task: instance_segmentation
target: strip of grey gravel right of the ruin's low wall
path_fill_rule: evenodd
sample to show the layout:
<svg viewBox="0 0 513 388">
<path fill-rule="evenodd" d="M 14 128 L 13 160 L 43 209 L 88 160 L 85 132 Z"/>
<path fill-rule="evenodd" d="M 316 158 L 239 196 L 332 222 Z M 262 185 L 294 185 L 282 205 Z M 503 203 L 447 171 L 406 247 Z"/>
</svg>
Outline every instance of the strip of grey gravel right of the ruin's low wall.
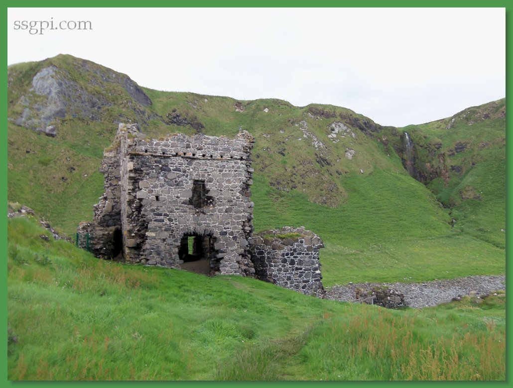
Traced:
<svg viewBox="0 0 513 388">
<path fill-rule="evenodd" d="M 368 290 L 376 285 L 386 285 L 404 294 L 409 307 L 422 308 L 449 302 L 458 295 L 465 296 L 475 292 L 478 296 L 506 289 L 506 276 L 468 276 L 458 279 L 433 280 L 424 283 L 358 283 L 334 285 L 326 289 L 327 299 L 352 301 L 354 290 Z"/>
</svg>

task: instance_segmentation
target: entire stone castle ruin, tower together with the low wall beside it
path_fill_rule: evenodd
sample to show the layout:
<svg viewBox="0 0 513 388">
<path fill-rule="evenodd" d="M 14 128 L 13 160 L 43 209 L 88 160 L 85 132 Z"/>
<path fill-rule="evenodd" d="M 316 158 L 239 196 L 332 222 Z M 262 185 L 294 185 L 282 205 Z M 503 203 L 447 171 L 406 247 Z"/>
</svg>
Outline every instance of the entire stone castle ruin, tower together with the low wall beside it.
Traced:
<svg viewBox="0 0 513 388">
<path fill-rule="evenodd" d="M 253 142 L 246 131 L 233 139 L 148 140 L 136 124 L 120 124 L 104 152 L 105 193 L 78 235 L 87 234 L 89 250 L 100 258 L 255 276 L 323 296 L 318 236 L 288 228 L 293 239 L 281 241 L 283 231 L 253 238 Z"/>
</svg>

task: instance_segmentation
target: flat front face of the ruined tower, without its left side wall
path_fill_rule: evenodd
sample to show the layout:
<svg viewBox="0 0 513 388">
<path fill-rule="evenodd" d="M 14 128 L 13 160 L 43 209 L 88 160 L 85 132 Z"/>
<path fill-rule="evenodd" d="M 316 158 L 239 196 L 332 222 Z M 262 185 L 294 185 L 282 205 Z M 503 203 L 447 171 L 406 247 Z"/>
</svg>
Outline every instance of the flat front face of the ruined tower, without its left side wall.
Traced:
<svg viewBox="0 0 513 388">
<path fill-rule="evenodd" d="M 126 257 L 132 262 L 179 268 L 185 235 L 210 236 L 215 273 L 252 272 L 247 254 L 253 231 L 249 152 L 252 138 L 176 135 L 165 141 L 127 139 Z M 191 204 L 194 182 L 204 185 L 208 203 Z M 140 215 L 134 206 L 141 204 Z M 134 215 L 136 217 L 134 217 Z M 145 236 L 132 233 L 147 221 Z M 136 249 L 140 248 L 139 255 Z"/>
</svg>

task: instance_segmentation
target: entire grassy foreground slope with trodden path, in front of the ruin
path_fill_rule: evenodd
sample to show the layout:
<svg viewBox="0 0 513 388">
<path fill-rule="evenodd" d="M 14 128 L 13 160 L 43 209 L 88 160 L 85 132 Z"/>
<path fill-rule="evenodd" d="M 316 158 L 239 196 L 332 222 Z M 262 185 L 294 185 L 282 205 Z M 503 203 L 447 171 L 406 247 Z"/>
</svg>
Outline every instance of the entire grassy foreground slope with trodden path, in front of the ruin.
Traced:
<svg viewBox="0 0 513 388">
<path fill-rule="evenodd" d="M 9 380 L 505 379 L 504 293 L 391 311 L 8 233 Z"/>
</svg>

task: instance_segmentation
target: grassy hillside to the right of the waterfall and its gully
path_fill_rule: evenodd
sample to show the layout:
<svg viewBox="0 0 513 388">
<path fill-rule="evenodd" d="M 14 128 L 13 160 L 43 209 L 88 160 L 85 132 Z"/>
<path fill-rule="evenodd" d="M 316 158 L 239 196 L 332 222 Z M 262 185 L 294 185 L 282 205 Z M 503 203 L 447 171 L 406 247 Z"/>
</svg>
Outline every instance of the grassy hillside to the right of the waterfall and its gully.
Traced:
<svg viewBox="0 0 513 388">
<path fill-rule="evenodd" d="M 500 248 L 506 242 L 505 112 L 503 98 L 402 129 L 416 145 L 416 167 L 433 175 L 427 187 L 450 209 L 455 228 Z"/>
</svg>

